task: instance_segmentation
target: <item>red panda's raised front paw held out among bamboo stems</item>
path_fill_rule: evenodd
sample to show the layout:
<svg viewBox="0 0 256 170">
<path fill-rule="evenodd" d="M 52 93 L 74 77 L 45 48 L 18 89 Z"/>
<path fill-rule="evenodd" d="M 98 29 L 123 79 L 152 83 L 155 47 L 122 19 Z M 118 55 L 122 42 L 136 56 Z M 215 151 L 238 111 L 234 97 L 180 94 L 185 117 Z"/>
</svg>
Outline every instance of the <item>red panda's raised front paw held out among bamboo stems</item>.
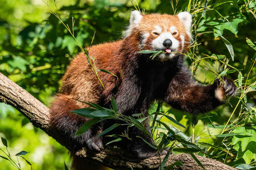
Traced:
<svg viewBox="0 0 256 170">
<path fill-rule="evenodd" d="M 215 86 L 215 98 L 221 102 L 227 102 L 230 96 L 236 95 L 237 87 L 231 79 L 227 77 L 222 77 L 224 83 L 221 82 L 219 79 L 216 79 L 214 84 Z"/>
</svg>

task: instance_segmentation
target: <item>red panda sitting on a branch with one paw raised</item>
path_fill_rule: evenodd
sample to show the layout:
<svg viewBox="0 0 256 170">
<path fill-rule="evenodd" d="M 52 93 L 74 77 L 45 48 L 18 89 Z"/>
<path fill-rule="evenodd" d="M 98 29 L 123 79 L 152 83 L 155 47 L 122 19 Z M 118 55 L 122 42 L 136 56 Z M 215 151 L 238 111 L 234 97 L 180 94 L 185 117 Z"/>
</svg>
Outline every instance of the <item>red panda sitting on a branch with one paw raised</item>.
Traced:
<svg viewBox="0 0 256 170">
<path fill-rule="evenodd" d="M 74 150 L 81 146 L 101 150 L 106 139 L 102 136 L 97 139 L 94 137 L 113 122 L 106 120 L 98 123 L 84 134 L 74 137 L 79 127 L 89 120 L 70 113 L 72 110 L 88 107 L 77 100 L 110 107 L 110 98 L 113 96 L 120 113 L 131 115 L 142 112 L 145 116 L 155 100 L 192 114 L 205 113 L 224 104 L 229 96 L 236 94 L 233 81 L 224 77 L 225 84 L 218 80 L 207 86 L 197 84 L 188 66 L 184 64 L 183 53 L 191 39 L 191 23 L 192 16 L 188 12 L 169 15 L 132 11 L 130 24 L 122 40 L 94 45 L 89 51 L 90 56 L 95 59 L 97 69 L 108 70 L 119 78 L 99 72 L 99 78 L 105 86 L 103 88 L 93 74 L 87 57 L 82 53 L 78 54 L 62 78 L 60 94 L 52 102 L 52 127 L 73 142 Z M 151 59 L 151 54 L 138 53 L 142 50 L 165 53 Z M 147 123 L 145 127 L 151 133 Z M 156 156 L 156 150 L 142 139 L 136 138 L 143 136 L 143 133 L 136 127 L 129 128 L 132 129 L 129 130 L 132 141 L 122 142 L 122 147 L 135 153 L 140 159 Z M 152 142 L 145 136 L 143 138 Z M 162 154 L 165 153 L 163 151 Z M 82 163 L 73 162 L 73 168 L 83 170 L 85 167 Z"/>
</svg>

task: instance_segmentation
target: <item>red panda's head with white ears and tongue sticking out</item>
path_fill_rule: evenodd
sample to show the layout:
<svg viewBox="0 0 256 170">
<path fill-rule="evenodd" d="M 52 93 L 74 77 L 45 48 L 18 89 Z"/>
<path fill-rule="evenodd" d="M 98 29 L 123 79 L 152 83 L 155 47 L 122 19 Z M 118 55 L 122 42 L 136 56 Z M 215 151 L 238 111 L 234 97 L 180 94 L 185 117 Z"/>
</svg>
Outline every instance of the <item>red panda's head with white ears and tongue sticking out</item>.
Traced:
<svg viewBox="0 0 256 170">
<path fill-rule="evenodd" d="M 138 35 L 140 50 L 165 51 L 158 55 L 164 61 L 188 48 L 191 23 L 189 12 L 143 15 L 139 11 L 132 11 L 125 37 Z"/>
</svg>

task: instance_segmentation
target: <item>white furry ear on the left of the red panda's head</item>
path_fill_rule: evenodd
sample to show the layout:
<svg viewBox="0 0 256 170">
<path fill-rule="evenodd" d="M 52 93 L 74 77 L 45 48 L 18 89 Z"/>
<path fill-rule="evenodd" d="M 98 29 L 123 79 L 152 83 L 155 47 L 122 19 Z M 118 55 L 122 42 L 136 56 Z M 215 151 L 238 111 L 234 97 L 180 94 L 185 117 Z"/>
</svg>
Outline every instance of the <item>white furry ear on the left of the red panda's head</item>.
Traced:
<svg viewBox="0 0 256 170">
<path fill-rule="evenodd" d="M 141 19 L 142 19 L 142 14 L 140 14 L 139 11 L 134 10 L 131 12 L 130 20 L 129 20 L 130 24 L 125 31 L 125 37 L 128 37 L 131 34 L 132 29 L 140 23 Z"/>
</svg>

